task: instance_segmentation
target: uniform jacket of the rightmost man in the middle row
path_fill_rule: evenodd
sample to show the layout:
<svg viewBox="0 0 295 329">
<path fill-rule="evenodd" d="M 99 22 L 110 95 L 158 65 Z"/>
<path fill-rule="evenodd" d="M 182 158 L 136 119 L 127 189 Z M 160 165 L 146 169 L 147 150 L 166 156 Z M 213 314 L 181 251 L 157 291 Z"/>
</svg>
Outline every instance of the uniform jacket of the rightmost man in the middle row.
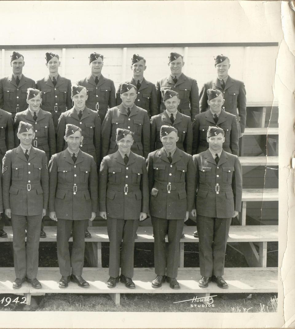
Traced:
<svg viewBox="0 0 295 329">
<path fill-rule="evenodd" d="M 221 110 L 218 121 L 215 123 L 210 110 L 197 114 L 193 122 L 193 154 L 208 149 L 207 131 L 209 126 L 218 126 L 224 130 L 225 141 L 222 145 L 224 151 L 238 155 L 239 132 L 236 116 Z"/>
</svg>

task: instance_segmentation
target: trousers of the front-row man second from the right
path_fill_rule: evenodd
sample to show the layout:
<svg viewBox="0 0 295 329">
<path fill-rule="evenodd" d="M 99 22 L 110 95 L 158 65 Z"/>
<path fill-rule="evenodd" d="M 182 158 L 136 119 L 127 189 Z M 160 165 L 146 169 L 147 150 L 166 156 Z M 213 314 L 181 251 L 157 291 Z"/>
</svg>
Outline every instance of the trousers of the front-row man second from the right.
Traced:
<svg viewBox="0 0 295 329">
<path fill-rule="evenodd" d="M 184 218 L 166 219 L 152 216 L 151 222 L 155 241 L 155 273 L 176 278 L 180 257 L 179 243 L 184 226 Z M 166 234 L 168 234 L 167 247 L 165 242 Z"/>
</svg>

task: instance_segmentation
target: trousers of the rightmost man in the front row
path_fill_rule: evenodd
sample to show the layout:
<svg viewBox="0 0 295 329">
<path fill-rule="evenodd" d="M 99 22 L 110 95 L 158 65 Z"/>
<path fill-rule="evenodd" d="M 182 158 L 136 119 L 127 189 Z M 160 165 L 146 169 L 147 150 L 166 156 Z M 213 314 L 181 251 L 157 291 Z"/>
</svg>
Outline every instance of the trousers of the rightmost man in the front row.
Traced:
<svg viewBox="0 0 295 329">
<path fill-rule="evenodd" d="M 232 218 L 197 215 L 201 276 L 223 275 L 225 249 Z"/>
</svg>

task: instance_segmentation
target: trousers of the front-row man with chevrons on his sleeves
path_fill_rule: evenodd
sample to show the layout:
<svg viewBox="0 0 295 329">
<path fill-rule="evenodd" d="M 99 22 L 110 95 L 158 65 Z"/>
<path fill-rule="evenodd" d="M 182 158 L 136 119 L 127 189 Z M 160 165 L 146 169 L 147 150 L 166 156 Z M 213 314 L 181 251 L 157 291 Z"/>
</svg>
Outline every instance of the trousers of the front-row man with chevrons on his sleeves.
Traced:
<svg viewBox="0 0 295 329">
<path fill-rule="evenodd" d="M 35 216 L 11 214 L 14 271 L 19 279 L 37 277 L 41 220 L 42 214 Z M 26 228 L 27 247 L 25 246 Z"/>
</svg>

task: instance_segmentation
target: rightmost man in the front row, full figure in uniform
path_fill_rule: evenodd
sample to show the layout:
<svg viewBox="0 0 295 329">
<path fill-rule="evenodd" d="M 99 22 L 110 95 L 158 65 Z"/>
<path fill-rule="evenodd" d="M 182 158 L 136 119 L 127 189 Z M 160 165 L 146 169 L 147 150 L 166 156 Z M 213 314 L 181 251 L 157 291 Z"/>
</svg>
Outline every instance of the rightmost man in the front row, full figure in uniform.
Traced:
<svg viewBox="0 0 295 329">
<path fill-rule="evenodd" d="M 200 287 L 210 281 L 227 288 L 223 279 L 226 242 L 232 217 L 242 200 L 242 168 L 238 156 L 225 152 L 224 131 L 209 127 L 209 149 L 193 156 L 196 165 L 196 209 L 199 234 Z"/>
</svg>

